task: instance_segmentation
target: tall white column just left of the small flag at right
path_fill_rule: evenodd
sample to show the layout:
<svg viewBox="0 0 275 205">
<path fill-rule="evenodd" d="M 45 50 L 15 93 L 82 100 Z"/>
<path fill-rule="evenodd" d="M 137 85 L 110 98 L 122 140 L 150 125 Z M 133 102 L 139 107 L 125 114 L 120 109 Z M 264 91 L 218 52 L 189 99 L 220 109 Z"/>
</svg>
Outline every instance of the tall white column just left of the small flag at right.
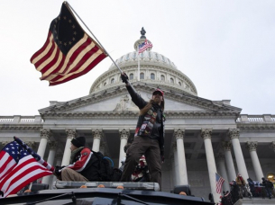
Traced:
<svg viewBox="0 0 275 205">
<path fill-rule="evenodd" d="M 220 195 L 215 191 L 216 166 L 215 166 L 215 156 L 214 156 L 213 147 L 211 143 L 211 134 L 212 134 L 212 129 L 201 129 L 201 137 L 204 138 L 204 143 L 206 148 L 206 161 L 207 161 L 207 167 L 208 167 L 211 192 L 213 194 L 214 201 L 218 202 Z"/>
</svg>

